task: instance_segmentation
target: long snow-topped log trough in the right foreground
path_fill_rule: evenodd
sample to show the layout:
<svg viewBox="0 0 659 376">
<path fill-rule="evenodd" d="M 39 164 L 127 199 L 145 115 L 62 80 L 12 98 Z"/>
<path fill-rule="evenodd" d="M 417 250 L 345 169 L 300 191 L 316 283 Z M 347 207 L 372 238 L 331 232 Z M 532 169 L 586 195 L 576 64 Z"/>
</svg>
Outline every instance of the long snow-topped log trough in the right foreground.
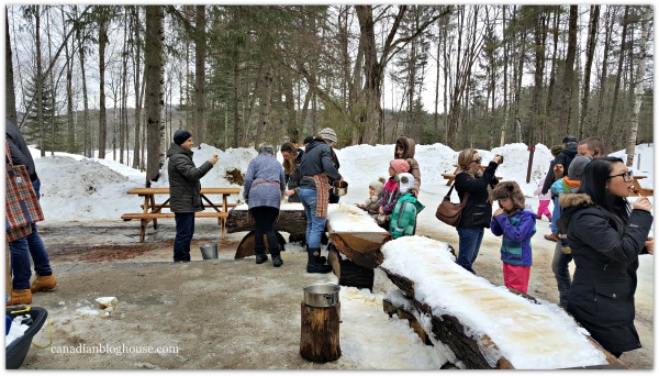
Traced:
<svg viewBox="0 0 659 376">
<path fill-rule="evenodd" d="M 403 236 L 382 254 L 380 268 L 402 291 L 387 295 L 386 311 L 414 316 L 417 329 L 448 345 L 460 367 L 625 368 L 561 308 L 465 270 L 444 242 Z"/>
</svg>

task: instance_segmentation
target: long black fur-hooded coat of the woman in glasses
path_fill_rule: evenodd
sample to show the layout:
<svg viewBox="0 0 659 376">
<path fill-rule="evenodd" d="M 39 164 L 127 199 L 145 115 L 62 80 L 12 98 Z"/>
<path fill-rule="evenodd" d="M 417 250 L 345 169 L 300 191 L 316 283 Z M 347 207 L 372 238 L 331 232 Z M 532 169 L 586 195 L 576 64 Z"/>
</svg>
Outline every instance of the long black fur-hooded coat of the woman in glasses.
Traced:
<svg viewBox="0 0 659 376">
<path fill-rule="evenodd" d="M 559 198 L 559 226 L 572 248 L 574 277 L 568 312 L 612 353 L 640 347 L 634 328 L 634 294 L 638 255 L 644 250 L 652 214 L 632 210 L 624 229 L 584 193 Z"/>
</svg>

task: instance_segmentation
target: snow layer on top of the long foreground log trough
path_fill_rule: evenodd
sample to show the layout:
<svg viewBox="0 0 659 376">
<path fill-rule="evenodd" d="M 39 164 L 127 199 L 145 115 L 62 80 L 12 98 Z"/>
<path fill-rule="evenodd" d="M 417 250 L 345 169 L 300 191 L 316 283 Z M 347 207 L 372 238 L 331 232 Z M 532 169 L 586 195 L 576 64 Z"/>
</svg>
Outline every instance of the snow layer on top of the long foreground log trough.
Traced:
<svg viewBox="0 0 659 376">
<path fill-rule="evenodd" d="M 415 299 L 434 316 L 450 314 L 466 334 L 489 335 L 516 369 L 556 369 L 606 364 L 588 332 L 552 303 L 534 305 L 456 264 L 447 244 L 403 236 L 382 246 L 382 267 L 414 283 Z M 484 354 L 491 366 L 499 354 Z M 489 355 L 489 356 L 488 356 Z"/>
</svg>

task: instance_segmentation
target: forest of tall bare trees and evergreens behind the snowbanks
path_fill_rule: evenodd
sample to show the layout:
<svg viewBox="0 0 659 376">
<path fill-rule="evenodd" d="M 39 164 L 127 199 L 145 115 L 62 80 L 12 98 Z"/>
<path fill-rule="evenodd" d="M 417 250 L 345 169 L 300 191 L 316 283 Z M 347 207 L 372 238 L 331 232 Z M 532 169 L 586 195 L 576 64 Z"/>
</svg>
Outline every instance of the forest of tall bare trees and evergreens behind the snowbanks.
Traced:
<svg viewBox="0 0 659 376">
<path fill-rule="evenodd" d="M 652 142 L 652 5 L 4 10 L 7 119 L 42 156 L 112 151 L 147 186 L 177 129 L 222 150 L 325 126 L 339 147 Z"/>
</svg>

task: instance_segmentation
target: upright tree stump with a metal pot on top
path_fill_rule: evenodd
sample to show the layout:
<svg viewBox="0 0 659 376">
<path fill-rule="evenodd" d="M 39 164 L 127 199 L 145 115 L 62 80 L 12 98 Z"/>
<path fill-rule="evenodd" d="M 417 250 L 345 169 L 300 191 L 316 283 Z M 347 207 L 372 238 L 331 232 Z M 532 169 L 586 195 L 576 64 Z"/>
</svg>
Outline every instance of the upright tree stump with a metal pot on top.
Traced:
<svg viewBox="0 0 659 376">
<path fill-rule="evenodd" d="M 332 307 L 311 307 L 302 301 L 301 311 L 300 355 L 308 361 L 317 363 L 339 358 L 340 302 Z"/>
</svg>

